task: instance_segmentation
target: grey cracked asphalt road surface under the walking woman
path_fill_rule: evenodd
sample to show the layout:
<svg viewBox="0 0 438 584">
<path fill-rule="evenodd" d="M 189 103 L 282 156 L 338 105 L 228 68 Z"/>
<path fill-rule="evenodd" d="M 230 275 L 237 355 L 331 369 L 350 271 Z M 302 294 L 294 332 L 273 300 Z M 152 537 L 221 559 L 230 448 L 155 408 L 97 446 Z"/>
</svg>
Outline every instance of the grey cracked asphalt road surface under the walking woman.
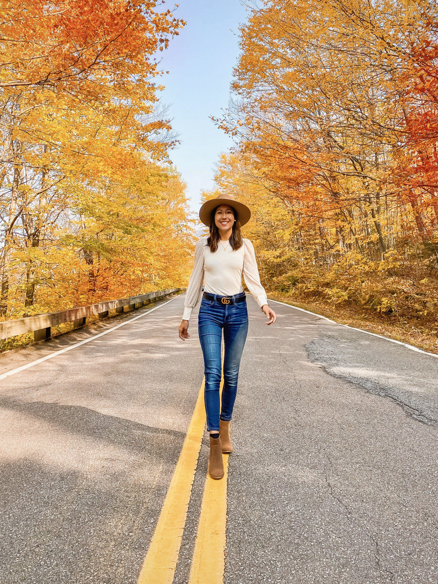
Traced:
<svg viewBox="0 0 438 584">
<path fill-rule="evenodd" d="M 137 582 L 202 381 L 182 305 L 0 380 L 1 584 Z M 267 327 L 248 298 L 225 584 L 438 583 L 438 358 L 273 306 Z M 0 373 L 131 316 L 8 354 Z M 206 459 L 204 440 L 175 584 Z"/>
</svg>

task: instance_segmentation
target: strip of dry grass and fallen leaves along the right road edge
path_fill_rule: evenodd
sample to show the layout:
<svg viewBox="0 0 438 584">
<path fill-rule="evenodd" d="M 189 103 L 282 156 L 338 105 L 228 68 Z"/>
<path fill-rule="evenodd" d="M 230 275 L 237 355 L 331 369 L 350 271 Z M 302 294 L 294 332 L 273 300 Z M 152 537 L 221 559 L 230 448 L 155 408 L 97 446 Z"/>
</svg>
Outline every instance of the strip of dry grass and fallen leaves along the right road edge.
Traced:
<svg viewBox="0 0 438 584">
<path fill-rule="evenodd" d="M 280 294 L 271 292 L 269 296 L 274 300 L 291 304 L 298 308 L 304 308 L 310 312 L 316 312 L 323 317 L 332 319 L 343 325 L 354 326 L 354 328 L 363 331 L 373 332 L 377 335 L 387 336 L 390 339 L 399 340 L 408 345 L 413 345 L 419 349 L 426 350 L 429 353 L 438 354 L 438 334 L 436 331 L 429 329 L 417 328 L 417 321 L 401 322 L 396 317 L 385 317 L 378 312 L 360 312 L 353 306 L 329 305 L 324 301 L 306 299 L 301 303 L 301 299 L 292 297 L 290 294 Z M 417 326 L 415 326 L 417 325 Z"/>
</svg>

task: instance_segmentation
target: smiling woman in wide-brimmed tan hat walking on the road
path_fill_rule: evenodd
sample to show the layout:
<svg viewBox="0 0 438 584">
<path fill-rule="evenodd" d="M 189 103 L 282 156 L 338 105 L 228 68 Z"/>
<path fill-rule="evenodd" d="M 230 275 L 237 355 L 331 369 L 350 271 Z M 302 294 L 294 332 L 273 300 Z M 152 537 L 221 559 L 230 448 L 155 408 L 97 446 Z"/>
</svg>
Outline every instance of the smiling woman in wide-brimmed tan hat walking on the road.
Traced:
<svg viewBox="0 0 438 584">
<path fill-rule="evenodd" d="M 246 205 L 224 194 L 203 204 L 200 220 L 210 228 L 210 235 L 196 243 L 194 267 L 187 288 L 179 336 L 189 338 L 187 329 L 193 308 L 204 295 L 198 316 L 199 339 L 204 356 L 207 430 L 210 432 L 208 473 L 211 478 L 224 476 L 222 453 L 231 453 L 230 420 L 236 399 L 239 364 L 248 332 L 245 284 L 269 321 L 276 314 L 267 304 L 265 288 L 260 284 L 254 248 L 243 239 L 241 225 L 248 223 L 251 211 Z M 219 386 L 222 359 L 221 342 L 224 333 L 224 385 L 222 404 Z"/>
</svg>

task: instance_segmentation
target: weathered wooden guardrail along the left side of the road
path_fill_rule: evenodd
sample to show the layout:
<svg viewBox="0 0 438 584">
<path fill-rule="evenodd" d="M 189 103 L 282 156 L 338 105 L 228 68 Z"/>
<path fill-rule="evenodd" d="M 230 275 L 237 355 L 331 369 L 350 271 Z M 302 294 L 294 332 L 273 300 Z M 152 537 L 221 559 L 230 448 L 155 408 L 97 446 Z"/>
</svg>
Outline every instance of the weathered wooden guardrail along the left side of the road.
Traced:
<svg viewBox="0 0 438 584">
<path fill-rule="evenodd" d="M 69 308 L 61 312 L 48 312 L 47 314 L 38 314 L 33 317 L 17 318 L 13 321 L 0 322 L 0 340 L 9 339 L 11 336 L 24 335 L 33 332 L 34 342 L 51 338 L 51 327 L 73 322 L 73 328 L 81 328 L 85 325 L 86 317 L 98 315 L 99 318 L 108 316 L 110 310 L 117 313 L 124 312 L 124 307 L 128 310 L 140 308 L 143 304 L 150 303 L 151 300 L 164 298 L 169 294 L 180 292 L 185 288 L 170 288 L 169 290 L 160 290 L 158 292 L 149 292 L 140 294 L 140 296 L 131 296 L 130 298 L 118 298 L 117 300 L 107 300 L 98 304 L 89 306 L 80 306 L 78 308 Z"/>
</svg>

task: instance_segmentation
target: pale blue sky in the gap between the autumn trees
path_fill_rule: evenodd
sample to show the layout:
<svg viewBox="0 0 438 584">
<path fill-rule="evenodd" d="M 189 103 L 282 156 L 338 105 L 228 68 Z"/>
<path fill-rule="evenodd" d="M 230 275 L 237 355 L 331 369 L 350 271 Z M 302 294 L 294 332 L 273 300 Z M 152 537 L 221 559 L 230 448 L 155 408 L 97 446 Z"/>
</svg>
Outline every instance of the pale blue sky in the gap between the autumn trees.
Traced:
<svg viewBox="0 0 438 584">
<path fill-rule="evenodd" d="M 161 101 L 181 144 L 171 152 L 173 164 L 187 183 L 191 206 L 197 211 L 200 190 L 213 186 L 220 152 L 233 144 L 209 116 L 220 116 L 230 98 L 232 68 L 239 54 L 238 27 L 246 19 L 240 0 L 180 0 L 175 16 L 187 25 L 161 53 L 160 78 L 166 86 Z M 165 7 L 173 4 L 166 2 Z"/>
</svg>

